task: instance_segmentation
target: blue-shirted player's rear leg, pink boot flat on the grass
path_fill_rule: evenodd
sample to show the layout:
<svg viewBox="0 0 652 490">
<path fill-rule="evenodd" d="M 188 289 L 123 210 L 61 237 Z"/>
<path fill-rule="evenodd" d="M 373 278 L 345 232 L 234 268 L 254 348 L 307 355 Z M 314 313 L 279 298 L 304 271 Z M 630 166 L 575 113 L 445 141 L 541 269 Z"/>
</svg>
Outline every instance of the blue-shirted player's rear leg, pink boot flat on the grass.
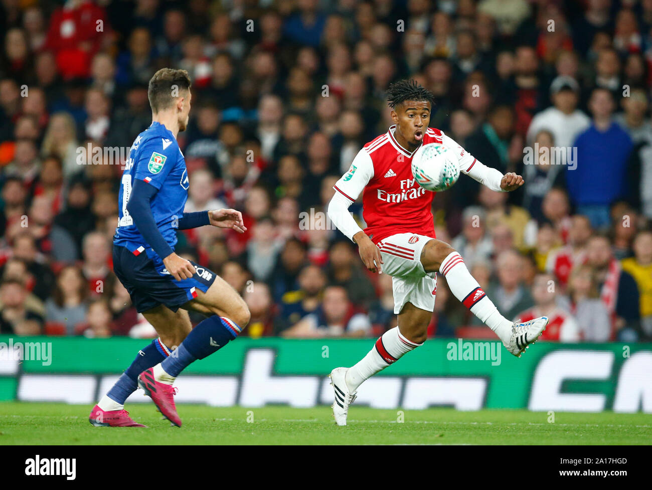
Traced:
<svg viewBox="0 0 652 490">
<path fill-rule="evenodd" d="M 192 330 L 185 310 L 175 312 L 161 304 L 143 315 L 159 337 L 138 351 L 131 365 L 93 407 L 89 422 L 97 427 L 145 427 L 132 420 L 125 410 L 125 401 L 138 388 L 138 375 L 168 357 Z"/>
</svg>

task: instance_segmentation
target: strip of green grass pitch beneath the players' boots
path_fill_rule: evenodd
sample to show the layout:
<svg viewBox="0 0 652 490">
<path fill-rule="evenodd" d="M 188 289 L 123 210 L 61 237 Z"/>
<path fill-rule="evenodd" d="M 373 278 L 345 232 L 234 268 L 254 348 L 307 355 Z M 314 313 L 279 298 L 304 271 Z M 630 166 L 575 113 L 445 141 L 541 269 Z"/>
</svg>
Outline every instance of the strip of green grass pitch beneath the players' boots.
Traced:
<svg viewBox="0 0 652 490">
<path fill-rule="evenodd" d="M 170 427 L 153 405 L 131 405 L 147 429 L 93 427 L 91 407 L 0 402 L 0 444 L 649 444 L 649 414 L 555 414 L 453 409 L 405 411 L 351 407 L 336 427 L 329 407 L 217 408 L 179 405 L 183 427 Z M 253 416 L 253 422 L 247 418 Z"/>
</svg>

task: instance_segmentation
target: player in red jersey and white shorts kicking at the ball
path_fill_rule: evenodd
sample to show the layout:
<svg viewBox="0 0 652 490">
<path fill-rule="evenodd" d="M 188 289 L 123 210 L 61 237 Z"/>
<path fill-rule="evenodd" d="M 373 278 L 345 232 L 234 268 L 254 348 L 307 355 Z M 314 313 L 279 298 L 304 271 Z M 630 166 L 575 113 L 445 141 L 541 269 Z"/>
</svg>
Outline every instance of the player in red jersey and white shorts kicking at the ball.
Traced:
<svg viewBox="0 0 652 490">
<path fill-rule="evenodd" d="M 331 371 L 333 415 L 346 425 L 349 405 L 366 379 L 396 362 L 426 340 L 435 305 L 436 274 L 443 274 L 451 292 L 496 332 L 503 345 L 520 357 L 539 338 L 547 317 L 512 323 L 485 295 L 458 252 L 435 238 L 432 216 L 434 193 L 421 188 L 411 172 L 420 145 L 437 143 L 455 149 L 460 171 L 494 191 L 509 192 L 523 185 L 515 173 L 503 175 L 478 162 L 450 137 L 429 128 L 434 95 L 414 80 L 394 83 L 387 91 L 394 125 L 366 145 L 349 171 L 334 185 L 328 215 L 344 235 L 357 244 L 364 266 L 393 277 L 394 313 L 398 326 L 383 334 L 353 367 Z M 363 192 L 361 229 L 348 211 Z"/>
</svg>

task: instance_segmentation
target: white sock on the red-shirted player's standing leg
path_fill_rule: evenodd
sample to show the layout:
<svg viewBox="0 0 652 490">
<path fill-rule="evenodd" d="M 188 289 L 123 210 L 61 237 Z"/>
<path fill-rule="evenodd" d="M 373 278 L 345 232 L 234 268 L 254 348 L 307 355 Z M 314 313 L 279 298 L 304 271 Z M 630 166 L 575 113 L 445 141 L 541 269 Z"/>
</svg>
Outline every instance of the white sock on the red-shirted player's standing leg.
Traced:
<svg viewBox="0 0 652 490">
<path fill-rule="evenodd" d="M 394 364 L 403 354 L 409 353 L 422 345 L 406 339 L 395 326 L 387 330 L 376 341 L 374 348 L 369 351 L 355 366 L 346 371 L 346 386 L 350 392 L 355 392 L 364 380 Z"/>
</svg>

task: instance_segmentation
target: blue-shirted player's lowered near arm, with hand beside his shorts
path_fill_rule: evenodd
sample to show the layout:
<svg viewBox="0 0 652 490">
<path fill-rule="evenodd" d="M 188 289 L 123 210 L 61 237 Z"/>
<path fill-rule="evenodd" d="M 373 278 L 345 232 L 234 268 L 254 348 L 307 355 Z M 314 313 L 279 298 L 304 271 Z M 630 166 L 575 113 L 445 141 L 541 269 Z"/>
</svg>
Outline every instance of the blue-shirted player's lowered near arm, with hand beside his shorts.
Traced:
<svg viewBox="0 0 652 490">
<path fill-rule="evenodd" d="M 154 252 L 161 257 L 166 269 L 177 281 L 191 278 L 195 273 L 192 264 L 179 257 L 166 242 L 163 235 L 158 231 L 154 215 L 152 214 L 151 199 L 158 192 L 158 189 L 144 180 L 134 180 L 134 188 L 129 197 L 126 209 L 134 220 L 134 225 L 147 243 L 154 249 Z"/>
</svg>

